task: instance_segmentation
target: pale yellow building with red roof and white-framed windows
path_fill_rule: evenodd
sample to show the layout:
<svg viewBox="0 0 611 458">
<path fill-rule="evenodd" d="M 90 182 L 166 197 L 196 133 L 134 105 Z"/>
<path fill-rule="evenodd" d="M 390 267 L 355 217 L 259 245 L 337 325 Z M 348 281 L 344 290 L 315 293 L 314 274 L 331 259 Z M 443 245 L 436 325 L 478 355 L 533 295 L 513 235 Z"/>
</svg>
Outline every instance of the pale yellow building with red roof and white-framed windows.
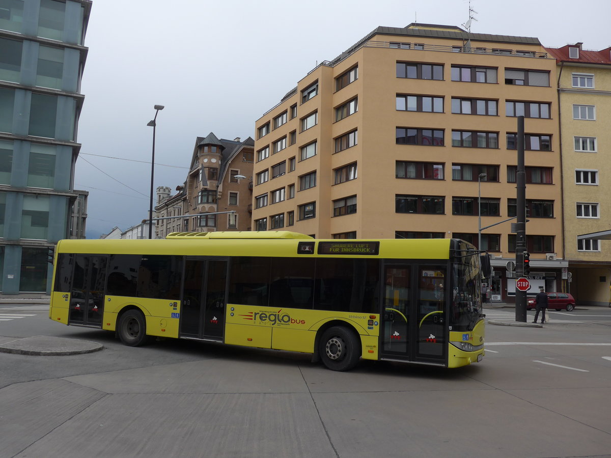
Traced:
<svg viewBox="0 0 611 458">
<path fill-rule="evenodd" d="M 564 248 L 577 304 L 611 304 L 611 48 L 547 48 L 558 64 Z M 592 238 L 579 238 L 593 234 Z"/>
</svg>

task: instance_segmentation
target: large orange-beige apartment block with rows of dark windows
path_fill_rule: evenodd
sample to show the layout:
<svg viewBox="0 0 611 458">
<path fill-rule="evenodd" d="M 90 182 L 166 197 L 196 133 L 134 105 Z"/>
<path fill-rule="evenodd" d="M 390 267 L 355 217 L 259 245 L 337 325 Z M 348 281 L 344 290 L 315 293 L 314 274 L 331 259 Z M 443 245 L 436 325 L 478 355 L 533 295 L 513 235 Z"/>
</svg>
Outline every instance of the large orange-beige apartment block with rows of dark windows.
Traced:
<svg viewBox="0 0 611 458">
<path fill-rule="evenodd" d="M 462 238 L 513 297 L 517 116 L 525 115 L 532 291 L 563 290 L 557 65 L 537 38 L 378 27 L 257 120 L 255 230 Z M 478 225 L 478 202 L 481 209 Z"/>
</svg>

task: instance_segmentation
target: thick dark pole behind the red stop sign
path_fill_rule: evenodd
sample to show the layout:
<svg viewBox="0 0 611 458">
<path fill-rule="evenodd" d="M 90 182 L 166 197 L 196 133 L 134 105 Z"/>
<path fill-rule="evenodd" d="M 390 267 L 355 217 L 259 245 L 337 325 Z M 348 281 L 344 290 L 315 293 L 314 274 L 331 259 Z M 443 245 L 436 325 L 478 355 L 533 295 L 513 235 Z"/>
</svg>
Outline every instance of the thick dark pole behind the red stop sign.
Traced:
<svg viewBox="0 0 611 458">
<path fill-rule="evenodd" d="M 526 251 L 526 172 L 524 169 L 524 116 L 518 116 L 518 170 L 516 171 L 516 277 L 524 275 Z M 516 288 L 516 321 L 526 322 L 526 292 Z"/>
</svg>

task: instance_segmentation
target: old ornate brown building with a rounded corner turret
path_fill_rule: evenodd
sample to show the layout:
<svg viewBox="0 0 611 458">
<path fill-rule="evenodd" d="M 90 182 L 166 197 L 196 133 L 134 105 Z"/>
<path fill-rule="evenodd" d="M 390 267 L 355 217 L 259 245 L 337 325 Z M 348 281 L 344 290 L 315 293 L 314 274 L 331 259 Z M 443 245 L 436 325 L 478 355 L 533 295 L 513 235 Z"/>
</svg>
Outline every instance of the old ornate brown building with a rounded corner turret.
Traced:
<svg viewBox="0 0 611 458">
<path fill-rule="evenodd" d="M 251 230 L 254 140 L 197 137 L 183 186 L 158 187 L 155 234 Z M 229 213 L 233 212 L 233 213 Z"/>
</svg>

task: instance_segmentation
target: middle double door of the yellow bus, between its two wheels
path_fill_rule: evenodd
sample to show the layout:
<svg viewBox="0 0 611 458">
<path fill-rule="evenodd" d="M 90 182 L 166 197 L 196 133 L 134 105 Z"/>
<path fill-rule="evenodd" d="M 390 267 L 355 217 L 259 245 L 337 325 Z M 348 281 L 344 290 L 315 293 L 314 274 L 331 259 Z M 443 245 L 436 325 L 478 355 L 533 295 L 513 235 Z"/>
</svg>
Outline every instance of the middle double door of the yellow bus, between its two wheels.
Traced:
<svg viewBox="0 0 611 458">
<path fill-rule="evenodd" d="M 227 260 L 187 259 L 184 277 L 180 335 L 222 341 Z"/>
</svg>

